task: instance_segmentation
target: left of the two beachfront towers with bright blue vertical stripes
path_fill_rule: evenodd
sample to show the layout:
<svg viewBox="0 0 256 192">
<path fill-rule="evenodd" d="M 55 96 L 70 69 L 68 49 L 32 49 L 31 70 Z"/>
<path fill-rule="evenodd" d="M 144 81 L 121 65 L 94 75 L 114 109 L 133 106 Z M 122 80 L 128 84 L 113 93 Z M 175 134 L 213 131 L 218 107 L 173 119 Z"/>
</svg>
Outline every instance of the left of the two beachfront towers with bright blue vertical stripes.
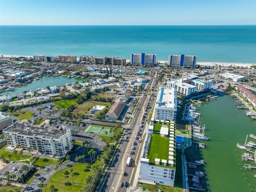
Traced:
<svg viewBox="0 0 256 192">
<path fill-rule="evenodd" d="M 131 65 L 132 66 L 156 66 L 156 55 L 155 54 L 131 54 Z"/>
</svg>

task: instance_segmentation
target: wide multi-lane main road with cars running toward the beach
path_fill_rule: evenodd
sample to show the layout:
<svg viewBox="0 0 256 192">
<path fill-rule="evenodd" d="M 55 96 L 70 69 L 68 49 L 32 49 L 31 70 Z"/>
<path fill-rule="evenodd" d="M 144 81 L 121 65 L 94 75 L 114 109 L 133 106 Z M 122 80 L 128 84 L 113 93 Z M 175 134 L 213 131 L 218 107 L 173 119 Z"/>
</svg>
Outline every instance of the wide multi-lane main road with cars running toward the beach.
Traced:
<svg viewBox="0 0 256 192">
<path fill-rule="evenodd" d="M 107 180 L 103 184 L 101 192 L 126 192 L 129 188 L 129 185 L 128 187 L 125 187 L 124 184 L 125 182 L 128 182 L 130 184 L 134 168 L 132 166 L 126 166 L 126 161 L 130 156 L 131 164 L 134 164 L 137 157 L 140 155 L 138 154 L 138 151 L 142 143 L 138 142 L 138 138 L 142 139 L 143 133 L 146 131 L 146 121 L 143 121 L 144 113 L 147 113 L 145 116 L 146 118 L 148 118 L 148 114 L 152 109 L 149 107 L 154 105 L 154 96 L 148 95 L 148 92 L 150 89 L 152 89 L 152 86 L 154 86 L 156 77 L 157 72 L 154 72 L 146 88 L 146 94 L 142 96 L 138 108 L 134 114 L 134 117 L 132 118 L 132 122 L 130 123 L 130 125 L 128 125 L 128 128 L 126 128 L 125 134 L 127 134 L 128 138 L 122 139 L 119 151 L 117 152 L 116 156 L 114 156 L 114 162 L 112 166 L 110 166 Z M 149 108 L 148 111 L 146 111 L 147 107 Z M 143 127 L 140 127 L 140 124 L 142 124 Z M 142 130 L 140 132 L 140 136 L 137 135 L 139 129 Z M 135 149 L 133 150 L 133 154 L 130 154 L 132 146 L 134 146 Z M 126 176 L 124 176 L 124 173 L 126 173 Z M 120 182 L 123 183 L 122 187 L 119 186 Z"/>
</svg>

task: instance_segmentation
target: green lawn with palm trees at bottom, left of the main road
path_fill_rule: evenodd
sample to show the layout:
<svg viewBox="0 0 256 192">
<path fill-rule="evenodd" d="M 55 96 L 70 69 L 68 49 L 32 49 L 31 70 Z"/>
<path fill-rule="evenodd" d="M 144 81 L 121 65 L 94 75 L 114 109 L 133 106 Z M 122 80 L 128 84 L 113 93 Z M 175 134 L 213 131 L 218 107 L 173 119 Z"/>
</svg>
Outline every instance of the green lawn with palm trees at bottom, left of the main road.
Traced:
<svg viewBox="0 0 256 192">
<path fill-rule="evenodd" d="M 65 183 L 66 182 L 70 182 L 72 183 L 72 176 L 70 176 L 70 174 L 68 174 L 68 178 L 65 178 L 64 172 L 65 170 L 67 170 L 70 173 L 70 168 L 65 168 L 61 171 L 58 171 L 54 174 L 54 176 L 52 176 L 52 181 L 49 181 L 47 183 L 47 187 L 46 187 L 46 192 L 50 192 L 49 190 L 49 186 L 50 185 L 54 185 L 54 187 L 56 189 L 58 189 L 58 191 L 60 192 L 78 192 L 80 190 L 80 188 L 82 188 L 82 186 L 84 186 L 85 181 L 84 178 L 86 178 L 87 175 L 92 174 L 92 170 L 91 170 L 91 165 L 87 164 L 87 163 L 82 163 L 82 164 L 75 164 L 72 166 L 72 169 L 74 170 L 73 173 L 75 174 L 74 176 L 74 185 L 70 185 L 70 186 L 66 186 Z"/>
</svg>

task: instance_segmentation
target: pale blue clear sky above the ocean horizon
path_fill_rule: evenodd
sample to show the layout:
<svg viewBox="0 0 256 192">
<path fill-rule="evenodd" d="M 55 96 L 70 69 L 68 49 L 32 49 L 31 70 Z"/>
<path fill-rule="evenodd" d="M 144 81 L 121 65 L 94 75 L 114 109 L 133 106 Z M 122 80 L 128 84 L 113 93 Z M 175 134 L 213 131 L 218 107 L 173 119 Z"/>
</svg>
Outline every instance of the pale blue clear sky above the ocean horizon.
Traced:
<svg viewBox="0 0 256 192">
<path fill-rule="evenodd" d="M 1 25 L 255 25 L 256 0 L 0 0 Z"/>
</svg>

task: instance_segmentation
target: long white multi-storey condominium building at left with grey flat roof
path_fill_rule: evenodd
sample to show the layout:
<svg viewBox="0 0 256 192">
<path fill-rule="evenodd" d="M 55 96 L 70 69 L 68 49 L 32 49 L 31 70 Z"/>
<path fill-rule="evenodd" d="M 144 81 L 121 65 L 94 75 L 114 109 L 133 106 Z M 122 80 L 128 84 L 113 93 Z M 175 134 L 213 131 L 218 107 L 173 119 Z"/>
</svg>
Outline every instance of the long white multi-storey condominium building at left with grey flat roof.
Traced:
<svg viewBox="0 0 256 192">
<path fill-rule="evenodd" d="M 38 127 L 16 123 L 3 130 L 8 149 L 14 150 L 17 144 L 22 150 L 31 148 L 41 155 L 64 157 L 73 148 L 70 129 Z M 66 148 L 67 147 L 67 148 Z"/>
</svg>

